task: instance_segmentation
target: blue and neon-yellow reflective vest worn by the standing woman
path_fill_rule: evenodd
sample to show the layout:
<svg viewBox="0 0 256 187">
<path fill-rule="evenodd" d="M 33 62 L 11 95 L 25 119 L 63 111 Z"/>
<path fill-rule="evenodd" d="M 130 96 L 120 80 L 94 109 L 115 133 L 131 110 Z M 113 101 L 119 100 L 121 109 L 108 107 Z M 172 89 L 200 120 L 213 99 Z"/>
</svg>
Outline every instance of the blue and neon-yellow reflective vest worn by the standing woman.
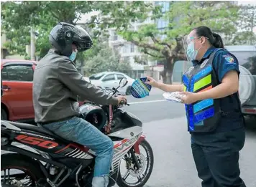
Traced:
<svg viewBox="0 0 256 187">
<path fill-rule="evenodd" d="M 183 75 L 183 91 L 204 92 L 219 85 L 218 77 L 213 67 L 216 49 L 208 59 L 188 69 Z M 221 105 L 219 99 L 198 100 L 185 105 L 189 132 L 211 132 L 216 129 L 221 119 Z"/>
</svg>

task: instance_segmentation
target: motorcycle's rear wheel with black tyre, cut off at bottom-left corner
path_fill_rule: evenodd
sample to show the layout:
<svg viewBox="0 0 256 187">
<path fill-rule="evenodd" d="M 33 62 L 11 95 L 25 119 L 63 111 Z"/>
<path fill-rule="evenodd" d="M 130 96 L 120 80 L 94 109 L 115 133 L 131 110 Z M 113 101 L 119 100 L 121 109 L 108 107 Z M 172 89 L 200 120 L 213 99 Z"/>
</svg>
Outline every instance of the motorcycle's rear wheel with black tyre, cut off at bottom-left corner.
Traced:
<svg viewBox="0 0 256 187">
<path fill-rule="evenodd" d="M 40 169 L 27 160 L 13 160 L 17 156 L 9 156 L 1 159 L 1 185 L 12 186 L 36 186 L 37 181 L 42 178 Z"/>
</svg>

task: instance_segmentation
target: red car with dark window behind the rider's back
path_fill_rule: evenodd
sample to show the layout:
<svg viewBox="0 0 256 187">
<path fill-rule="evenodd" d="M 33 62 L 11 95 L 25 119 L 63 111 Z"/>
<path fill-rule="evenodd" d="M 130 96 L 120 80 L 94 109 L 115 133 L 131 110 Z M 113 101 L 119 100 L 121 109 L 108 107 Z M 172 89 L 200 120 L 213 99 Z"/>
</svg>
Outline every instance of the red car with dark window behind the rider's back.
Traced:
<svg viewBox="0 0 256 187">
<path fill-rule="evenodd" d="M 34 120 L 32 84 L 36 65 L 30 60 L 1 59 L 1 120 Z"/>
</svg>

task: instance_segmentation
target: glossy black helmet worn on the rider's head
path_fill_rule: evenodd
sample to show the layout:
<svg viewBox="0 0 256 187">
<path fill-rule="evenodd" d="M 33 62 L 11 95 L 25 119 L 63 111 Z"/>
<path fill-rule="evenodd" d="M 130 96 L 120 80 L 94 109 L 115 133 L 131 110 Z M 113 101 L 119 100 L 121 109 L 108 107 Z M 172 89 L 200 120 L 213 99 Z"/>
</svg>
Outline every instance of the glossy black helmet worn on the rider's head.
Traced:
<svg viewBox="0 0 256 187">
<path fill-rule="evenodd" d="M 76 44 L 78 52 L 86 51 L 93 45 L 91 37 L 85 29 L 65 22 L 60 22 L 53 27 L 49 41 L 60 54 L 67 57 L 72 54 L 72 44 Z"/>
</svg>

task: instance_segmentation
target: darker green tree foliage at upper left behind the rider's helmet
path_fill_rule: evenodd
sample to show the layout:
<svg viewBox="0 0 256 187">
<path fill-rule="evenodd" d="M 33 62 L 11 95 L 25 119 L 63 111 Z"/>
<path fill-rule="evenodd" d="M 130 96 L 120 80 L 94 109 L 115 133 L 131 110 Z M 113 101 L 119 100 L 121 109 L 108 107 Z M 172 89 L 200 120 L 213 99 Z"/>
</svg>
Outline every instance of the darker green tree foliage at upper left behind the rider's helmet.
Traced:
<svg viewBox="0 0 256 187">
<path fill-rule="evenodd" d="M 60 21 L 76 24 L 81 15 L 99 11 L 96 16 L 82 23 L 93 28 L 95 36 L 109 27 L 125 28 L 129 20 L 145 16 L 150 7 L 143 1 L 6 1 L 1 2 L 1 29 L 10 40 L 6 47 L 12 54 L 25 55 L 25 45 L 30 42 L 30 27 L 37 32 L 36 52 L 43 57 L 50 44 L 48 34 Z"/>
</svg>

